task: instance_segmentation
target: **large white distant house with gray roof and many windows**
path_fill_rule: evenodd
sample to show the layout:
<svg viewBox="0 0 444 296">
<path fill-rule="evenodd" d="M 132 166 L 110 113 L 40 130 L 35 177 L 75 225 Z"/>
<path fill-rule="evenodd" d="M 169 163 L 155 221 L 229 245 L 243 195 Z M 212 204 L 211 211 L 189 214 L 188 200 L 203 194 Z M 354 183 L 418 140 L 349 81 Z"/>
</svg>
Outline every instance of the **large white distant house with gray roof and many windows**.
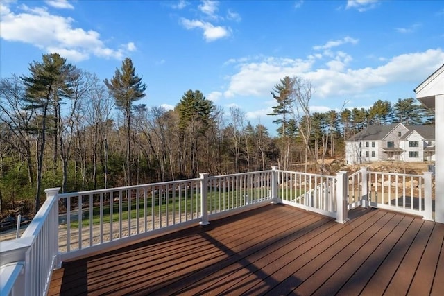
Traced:
<svg viewBox="0 0 444 296">
<path fill-rule="evenodd" d="M 435 161 L 434 125 L 370 125 L 345 141 L 347 164 Z"/>
</svg>

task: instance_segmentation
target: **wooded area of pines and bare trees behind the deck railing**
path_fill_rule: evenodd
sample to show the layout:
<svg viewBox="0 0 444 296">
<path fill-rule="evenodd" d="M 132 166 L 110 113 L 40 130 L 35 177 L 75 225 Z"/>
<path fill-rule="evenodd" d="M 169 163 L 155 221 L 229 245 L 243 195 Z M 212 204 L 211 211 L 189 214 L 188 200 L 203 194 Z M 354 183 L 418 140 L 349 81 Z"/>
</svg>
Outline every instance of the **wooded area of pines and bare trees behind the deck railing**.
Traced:
<svg viewBox="0 0 444 296">
<path fill-rule="evenodd" d="M 434 123 L 434 114 L 413 98 L 311 113 L 311 82 L 287 76 L 271 90 L 276 105 L 269 115 L 278 125 L 271 137 L 243 110 L 224 110 L 199 90 L 185 91 L 173 110 L 136 105 L 149 82 L 129 58 L 104 81 L 57 53 L 42 55 L 28 70 L 1 78 L 3 212 L 19 201 L 37 211 L 42 189 L 56 186 L 81 191 L 301 163 L 305 171 L 331 173 L 323 159 L 343 157 L 344 141 L 366 125 Z"/>
</svg>

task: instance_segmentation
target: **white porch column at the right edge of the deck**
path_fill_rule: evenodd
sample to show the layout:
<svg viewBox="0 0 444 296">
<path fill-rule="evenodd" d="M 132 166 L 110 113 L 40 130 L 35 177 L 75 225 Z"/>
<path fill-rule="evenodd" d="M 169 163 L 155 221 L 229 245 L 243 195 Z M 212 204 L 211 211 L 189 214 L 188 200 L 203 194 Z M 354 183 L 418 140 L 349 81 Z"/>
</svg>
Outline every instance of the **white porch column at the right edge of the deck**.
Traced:
<svg viewBox="0 0 444 296">
<path fill-rule="evenodd" d="M 444 94 L 435 96 L 435 221 L 444 223 Z"/>
</svg>

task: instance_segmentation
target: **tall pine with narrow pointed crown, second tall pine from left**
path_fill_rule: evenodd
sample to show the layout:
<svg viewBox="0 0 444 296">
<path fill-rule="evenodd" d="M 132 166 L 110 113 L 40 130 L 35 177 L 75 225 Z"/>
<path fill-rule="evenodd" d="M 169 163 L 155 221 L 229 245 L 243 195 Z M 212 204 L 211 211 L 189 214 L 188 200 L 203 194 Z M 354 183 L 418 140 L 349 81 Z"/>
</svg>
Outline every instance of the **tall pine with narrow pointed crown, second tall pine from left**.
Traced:
<svg viewBox="0 0 444 296">
<path fill-rule="evenodd" d="M 126 127 L 126 185 L 131 184 L 131 118 L 133 115 L 133 102 L 145 96 L 146 85 L 142 78 L 135 74 L 135 67 L 130 58 L 122 62 L 121 69 L 116 69 L 110 81 L 105 79 L 110 95 L 114 98 L 117 109 L 123 112 Z"/>
</svg>

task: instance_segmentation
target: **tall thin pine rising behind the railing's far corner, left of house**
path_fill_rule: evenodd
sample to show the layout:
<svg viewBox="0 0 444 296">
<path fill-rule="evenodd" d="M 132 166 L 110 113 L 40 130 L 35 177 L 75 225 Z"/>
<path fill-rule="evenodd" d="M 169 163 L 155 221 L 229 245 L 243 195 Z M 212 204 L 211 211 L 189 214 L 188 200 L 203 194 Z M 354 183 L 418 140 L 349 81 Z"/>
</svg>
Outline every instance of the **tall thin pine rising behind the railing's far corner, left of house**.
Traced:
<svg viewBox="0 0 444 296">
<path fill-rule="evenodd" d="M 284 170 L 288 168 L 289 155 L 284 153 L 285 150 L 289 150 L 287 143 L 287 123 L 289 120 L 289 115 L 291 114 L 291 108 L 295 102 L 294 97 L 294 86 L 295 78 L 290 78 L 285 76 L 280 80 L 280 84 L 275 85 L 274 89 L 271 90 L 271 95 L 276 100 L 278 105 L 273 106 L 273 112 L 268 114 L 271 116 L 281 116 L 279 119 L 273 121 L 273 123 L 280 124 L 281 133 L 281 149 L 280 149 L 280 164 L 283 164 Z"/>
</svg>

